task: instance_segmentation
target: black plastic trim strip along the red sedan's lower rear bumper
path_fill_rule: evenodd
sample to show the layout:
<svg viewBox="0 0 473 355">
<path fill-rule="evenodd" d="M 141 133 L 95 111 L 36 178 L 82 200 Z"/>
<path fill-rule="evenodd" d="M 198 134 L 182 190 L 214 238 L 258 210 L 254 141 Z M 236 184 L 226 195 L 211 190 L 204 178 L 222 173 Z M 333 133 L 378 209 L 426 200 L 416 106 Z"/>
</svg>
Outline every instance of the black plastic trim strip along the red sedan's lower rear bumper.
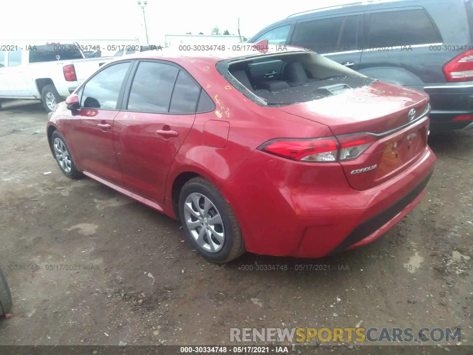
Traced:
<svg viewBox="0 0 473 355">
<path fill-rule="evenodd" d="M 358 243 L 360 240 L 365 239 L 370 234 L 377 231 L 379 228 L 384 226 L 387 222 L 391 221 L 398 213 L 406 208 L 417 196 L 423 191 L 425 186 L 430 180 L 432 173 L 424 178 L 419 185 L 414 187 L 410 192 L 404 195 L 403 198 L 392 204 L 389 208 L 369 218 L 368 220 L 361 222 L 350 234 L 342 240 L 342 242 L 335 247 L 328 255 L 340 253 L 346 248 L 351 247 L 353 244 Z"/>
</svg>

